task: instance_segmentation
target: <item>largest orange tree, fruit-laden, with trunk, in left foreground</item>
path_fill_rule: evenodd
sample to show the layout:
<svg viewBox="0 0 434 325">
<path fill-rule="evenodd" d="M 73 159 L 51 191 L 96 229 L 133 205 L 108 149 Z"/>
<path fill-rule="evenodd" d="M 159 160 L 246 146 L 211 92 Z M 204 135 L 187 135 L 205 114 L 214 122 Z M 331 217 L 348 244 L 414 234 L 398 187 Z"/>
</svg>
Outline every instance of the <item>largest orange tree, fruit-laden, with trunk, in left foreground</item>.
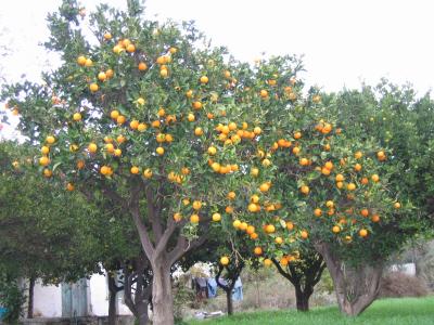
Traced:
<svg viewBox="0 0 434 325">
<path fill-rule="evenodd" d="M 224 224 L 245 214 L 252 186 L 267 196 L 272 168 L 263 174 L 251 165 L 270 167 L 264 152 L 256 156 L 270 94 L 192 25 L 159 25 L 142 13 L 128 1 L 127 12 L 101 5 L 87 21 L 76 1 L 63 1 L 48 17 L 46 43 L 61 66 L 43 84 L 5 87 L 2 100 L 21 115 L 28 142 L 40 144 L 43 176 L 131 216 L 153 271 L 154 324 L 171 324 L 171 265 L 204 242 L 229 190 L 241 192 L 219 211 L 230 220 Z M 88 23 L 92 35 L 82 31 Z M 288 84 L 299 68 L 293 62 L 282 61 Z M 248 211 L 256 218 L 271 207 Z"/>
</svg>

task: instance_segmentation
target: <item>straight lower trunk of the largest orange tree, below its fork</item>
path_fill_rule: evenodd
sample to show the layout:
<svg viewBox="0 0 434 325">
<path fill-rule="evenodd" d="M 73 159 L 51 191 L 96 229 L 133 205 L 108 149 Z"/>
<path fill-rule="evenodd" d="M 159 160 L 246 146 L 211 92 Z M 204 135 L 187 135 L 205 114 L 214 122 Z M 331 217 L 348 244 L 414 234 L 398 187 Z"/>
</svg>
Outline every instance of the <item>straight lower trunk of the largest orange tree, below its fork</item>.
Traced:
<svg viewBox="0 0 434 325">
<path fill-rule="evenodd" d="M 159 259 L 152 261 L 153 325 L 174 324 L 174 296 L 171 292 L 170 263 Z"/>
</svg>

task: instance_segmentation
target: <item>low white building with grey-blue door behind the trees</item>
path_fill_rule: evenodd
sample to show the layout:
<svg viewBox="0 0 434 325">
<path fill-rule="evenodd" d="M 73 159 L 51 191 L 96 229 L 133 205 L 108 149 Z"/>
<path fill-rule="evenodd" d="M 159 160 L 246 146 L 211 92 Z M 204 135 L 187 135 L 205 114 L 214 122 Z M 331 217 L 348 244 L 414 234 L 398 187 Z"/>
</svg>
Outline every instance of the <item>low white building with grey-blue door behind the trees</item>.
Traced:
<svg viewBox="0 0 434 325">
<path fill-rule="evenodd" d="M 124 303 L 124 292 L 117 294 L 117 314 L 131 315 Z M 75 284 L 44 286 L 40 281 L 34 290 L 35 317 L 106 316 L 108 315 L 108 284 L 105 275 L 94 274 L 90 280 Z"/>
</svg>

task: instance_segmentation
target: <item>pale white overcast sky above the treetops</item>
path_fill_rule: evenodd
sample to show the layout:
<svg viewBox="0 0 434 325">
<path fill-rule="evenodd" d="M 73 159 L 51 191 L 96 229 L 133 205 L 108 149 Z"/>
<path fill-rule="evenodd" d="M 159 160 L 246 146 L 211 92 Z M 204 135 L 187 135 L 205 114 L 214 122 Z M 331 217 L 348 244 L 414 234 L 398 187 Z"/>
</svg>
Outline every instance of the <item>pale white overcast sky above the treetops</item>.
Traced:
<svg viewBox="0 0 434 325">
<path fill-rule="evenodd" d="M 38 80 L 53 61 L 38 43 L 48 38 L 44 17 L 60 0 L 0 1 L 2 75 Z M 99 0 L 81 1 L 91 11 Z M 126 0 L 105 2 L 125 8 Z M 304 55 L 307 83 L 327 91 L 410 82 L 420 94 L 434 86 L 434 1 L 431 0 L 148 0 L 146 17 L 195 21 L 215 46 L 241 61 Z"/>
</svg>

